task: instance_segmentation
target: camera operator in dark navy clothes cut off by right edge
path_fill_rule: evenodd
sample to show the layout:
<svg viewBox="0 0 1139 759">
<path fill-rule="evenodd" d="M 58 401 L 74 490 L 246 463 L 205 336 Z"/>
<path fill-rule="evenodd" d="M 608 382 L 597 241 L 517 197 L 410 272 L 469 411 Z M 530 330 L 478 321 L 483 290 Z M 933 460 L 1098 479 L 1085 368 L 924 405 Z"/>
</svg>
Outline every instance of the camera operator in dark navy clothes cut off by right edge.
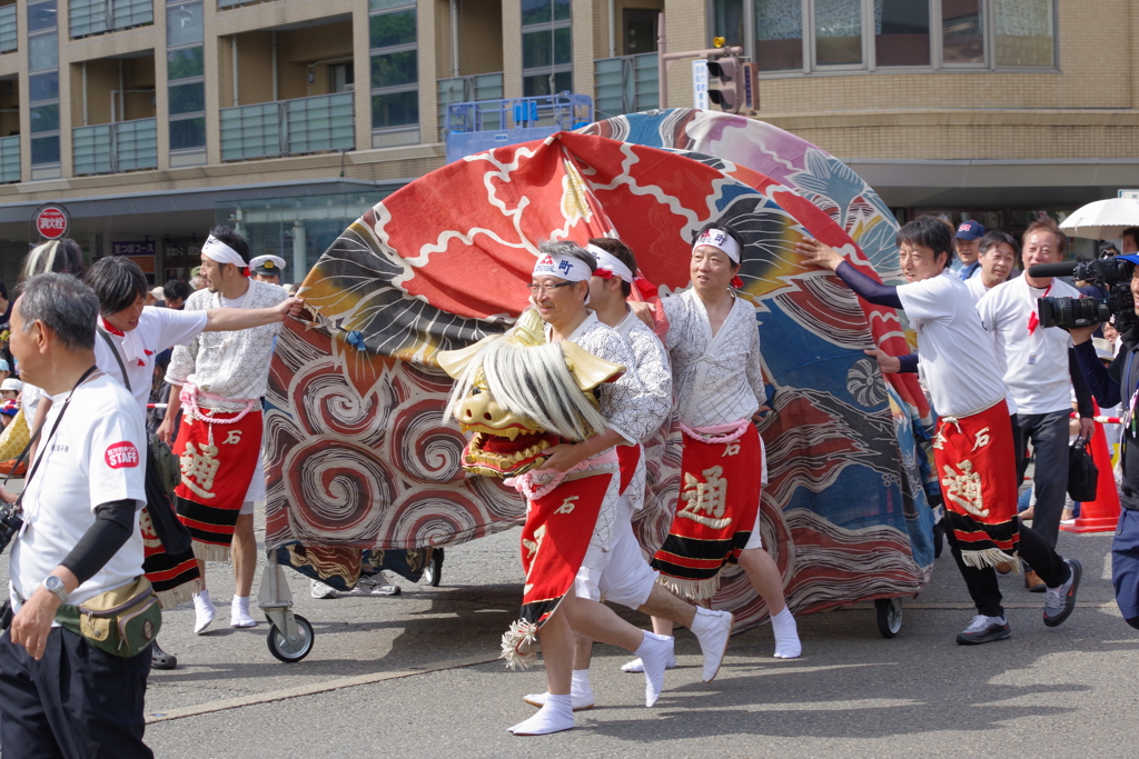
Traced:
<svg viewBox="0 0 1139 759">
<path fill-rule="evenodd" d="M 1139 255 L 1118 256 L 1123 261 L 1139 263 Z M 1139 267 L 1131 275 L 1131 292 L 1139 304 Z M 1139 313 L 1139 305 L 1136 307 Z M 1139 397 L 1139 325 L 1120 336 L 1122 346 L 1112 365 L 1104 368 L 1096 354 L 1091 335 L 1095 325 L 1072 329 L 1072 341 L 1080 369 L 1088 379 L 1096 401 L 1101 406 L 1114 406 L 1125 402 L 1123 415 L 1123 442 L 1120 453 L 1123 484 L 1120 487 L 1120 523 L 1112 542 L 1112 584 L 1115 586 L 1115 603 L 1124 621 L 1139 629 L 1139 436 L 1136 435 L 1136 401 Z M 1100 472 L 1100 477 L 1111 476 Z"/>
</svg>

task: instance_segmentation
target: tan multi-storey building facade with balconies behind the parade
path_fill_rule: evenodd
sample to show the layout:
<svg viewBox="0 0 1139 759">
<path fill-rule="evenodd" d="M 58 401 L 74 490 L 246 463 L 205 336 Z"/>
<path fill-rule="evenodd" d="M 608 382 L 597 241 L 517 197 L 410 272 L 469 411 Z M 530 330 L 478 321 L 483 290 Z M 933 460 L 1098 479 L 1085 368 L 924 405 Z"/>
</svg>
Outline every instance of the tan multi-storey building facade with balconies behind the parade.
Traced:
<svg viewBox="0 0 1139 759">
<path fill-rule="evenodd" d="M 900 218 L 1015 230 L 1139 184 L 1133 0 L 16 0 L 0 277 L 49 201 L 90 256 L 142 250 L 157 282 L 216 222 L 306 270 L 443 165 L 449 104 L 656 107 L 662 32 L 669 51 L 741 46 L 754 117 L 850 163 Z M 664 85 L 691 105 L 687 61 Z M 495 113 L 482 129 L 510 125 Z"/>
</svg>

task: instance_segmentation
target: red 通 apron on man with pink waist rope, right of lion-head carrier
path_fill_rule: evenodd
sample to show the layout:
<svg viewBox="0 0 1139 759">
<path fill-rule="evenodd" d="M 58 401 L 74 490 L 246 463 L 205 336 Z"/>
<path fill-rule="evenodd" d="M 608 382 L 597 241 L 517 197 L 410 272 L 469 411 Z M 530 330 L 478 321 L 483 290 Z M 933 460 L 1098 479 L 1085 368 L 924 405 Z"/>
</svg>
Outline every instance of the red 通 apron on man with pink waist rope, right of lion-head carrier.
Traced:
<svg viewBox="0 0 1139 759">
<path fill-rule="evenodd" d="M 677 514 L 653 556 L 659 581 L 685 599 L 710 600 L 720 570 L 739 561 L 760 509 L 763 446 L 749 420 L 685 429 Z"/>
</svg>

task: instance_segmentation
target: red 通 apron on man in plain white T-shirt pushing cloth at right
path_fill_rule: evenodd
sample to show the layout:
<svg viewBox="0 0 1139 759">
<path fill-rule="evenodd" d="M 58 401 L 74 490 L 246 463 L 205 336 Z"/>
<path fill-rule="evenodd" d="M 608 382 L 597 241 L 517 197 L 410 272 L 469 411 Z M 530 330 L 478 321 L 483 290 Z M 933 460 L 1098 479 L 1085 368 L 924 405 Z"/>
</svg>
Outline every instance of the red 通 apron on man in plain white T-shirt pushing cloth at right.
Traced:
<svg viewBox="0 0 1139 759">
<path fill-rule="evenodd" d="M 1005 401 L 968 416 L 942 416 L 933 443 L 945 519 L 969 567 L 1016 566 L 1016 449 Z"/>
</svg>

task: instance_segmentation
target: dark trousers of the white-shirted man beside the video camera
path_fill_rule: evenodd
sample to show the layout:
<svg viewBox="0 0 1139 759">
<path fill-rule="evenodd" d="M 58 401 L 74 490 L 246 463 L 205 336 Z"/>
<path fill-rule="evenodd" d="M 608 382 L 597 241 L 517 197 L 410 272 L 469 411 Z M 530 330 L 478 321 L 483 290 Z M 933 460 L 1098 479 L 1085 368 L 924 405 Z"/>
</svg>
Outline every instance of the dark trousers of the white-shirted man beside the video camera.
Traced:
<svg viewBox="0 0 1139 759">
<path fill-rule="evenodd" d="M 1068 410 L 1050 414 L 1014 414 L 1014 440 L 1016 449 L 1017 484 L 1024 480 L 1029 469 L 1029 459 L 1024 455 L 1024 446 L 1032 443 L 1036 457 L 1036 471 L 1032 484 L 1036 488 L 1036 506 L 1032 518 L 1032 529 L 1044 538 L 1048 545 L 1056 547 L 1060 534 L 1060 514 L 1067 500 L 1067 438 Z M 1019 434 L 1019 438 L 1017 438 Z"/>
</svg>

